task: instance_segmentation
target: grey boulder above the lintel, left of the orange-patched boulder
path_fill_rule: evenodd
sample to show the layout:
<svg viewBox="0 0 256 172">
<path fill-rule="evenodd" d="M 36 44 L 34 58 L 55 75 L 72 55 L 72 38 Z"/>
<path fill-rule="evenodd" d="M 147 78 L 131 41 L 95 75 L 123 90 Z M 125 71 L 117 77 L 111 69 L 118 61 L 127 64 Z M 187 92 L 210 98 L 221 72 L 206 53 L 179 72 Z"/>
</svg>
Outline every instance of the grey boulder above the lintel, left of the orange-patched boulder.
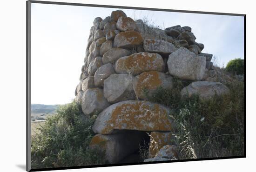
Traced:
<svg viewBox="0 0 256 172">
<path fill-rule="evenodd" d="M 130 74 L 112 74 L 104 80 L 104 96 L 109 103 L 135 99 Z"/>
</svg>

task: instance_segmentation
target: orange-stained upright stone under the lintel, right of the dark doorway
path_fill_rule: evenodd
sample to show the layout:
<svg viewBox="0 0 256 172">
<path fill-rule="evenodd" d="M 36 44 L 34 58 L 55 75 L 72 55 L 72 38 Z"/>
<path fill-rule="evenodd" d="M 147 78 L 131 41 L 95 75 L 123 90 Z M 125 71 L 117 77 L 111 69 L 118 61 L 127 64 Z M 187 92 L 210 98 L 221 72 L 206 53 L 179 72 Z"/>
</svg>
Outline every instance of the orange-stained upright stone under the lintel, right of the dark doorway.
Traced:
<svg viewBox="0 0 256 172">
<path fill-rule="evenodd" d="M 165 145 L 174 143 L 172 132 L 151 132 L 148 148 L 148 158 L 154 158 L 157 152 Z"/>
</svg>

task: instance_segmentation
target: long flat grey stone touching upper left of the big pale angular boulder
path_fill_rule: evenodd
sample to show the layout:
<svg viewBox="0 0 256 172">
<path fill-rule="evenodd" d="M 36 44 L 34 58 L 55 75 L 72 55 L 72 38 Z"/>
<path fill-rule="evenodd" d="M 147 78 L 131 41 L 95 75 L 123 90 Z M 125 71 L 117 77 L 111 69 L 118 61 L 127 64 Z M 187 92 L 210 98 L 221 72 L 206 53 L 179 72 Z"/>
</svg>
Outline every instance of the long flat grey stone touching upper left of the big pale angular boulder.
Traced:
<svg viewBox="0 0 256 172">
<path fill-rule="evenodd" d="M 144 40 L 143 48 L 146 52 L 160 54 L 170 54 L 177 50 L 177 48 L 168 41 L 153 39 Z"/>
</svg>

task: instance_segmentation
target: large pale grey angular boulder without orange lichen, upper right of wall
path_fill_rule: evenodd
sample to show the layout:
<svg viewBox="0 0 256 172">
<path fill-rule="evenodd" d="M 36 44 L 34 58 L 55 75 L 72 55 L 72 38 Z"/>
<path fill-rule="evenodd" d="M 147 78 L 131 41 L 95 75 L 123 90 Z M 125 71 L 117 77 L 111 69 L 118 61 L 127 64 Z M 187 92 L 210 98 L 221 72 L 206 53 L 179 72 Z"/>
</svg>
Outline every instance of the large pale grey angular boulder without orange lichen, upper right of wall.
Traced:
<svg viewBox="0 0 256 172">
<path fill-rule="evenodd" d="M 205 57 L 190 52 L 185 47 L 180 47 L 169 55 L 169 73 L 177 78 L 186 80 L 202 80 L 205 70 Z"/>
</svg>

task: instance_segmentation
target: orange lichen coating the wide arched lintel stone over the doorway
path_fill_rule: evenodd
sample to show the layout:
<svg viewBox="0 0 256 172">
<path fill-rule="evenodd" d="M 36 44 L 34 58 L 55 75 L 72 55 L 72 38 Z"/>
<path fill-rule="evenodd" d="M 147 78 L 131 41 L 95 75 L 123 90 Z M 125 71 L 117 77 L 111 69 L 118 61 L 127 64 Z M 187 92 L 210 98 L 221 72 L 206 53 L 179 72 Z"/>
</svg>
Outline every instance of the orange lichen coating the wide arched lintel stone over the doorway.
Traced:
<svg viewBox="0 0 256 172">
<path fill-rule="evenodd" d="M 101 133 L 108 134 L 114 129 L 169 131 L 171 124 L 168 120 L 168 110 L 146 101 L 121 104 L 115 107 Z"/>
</svg>

